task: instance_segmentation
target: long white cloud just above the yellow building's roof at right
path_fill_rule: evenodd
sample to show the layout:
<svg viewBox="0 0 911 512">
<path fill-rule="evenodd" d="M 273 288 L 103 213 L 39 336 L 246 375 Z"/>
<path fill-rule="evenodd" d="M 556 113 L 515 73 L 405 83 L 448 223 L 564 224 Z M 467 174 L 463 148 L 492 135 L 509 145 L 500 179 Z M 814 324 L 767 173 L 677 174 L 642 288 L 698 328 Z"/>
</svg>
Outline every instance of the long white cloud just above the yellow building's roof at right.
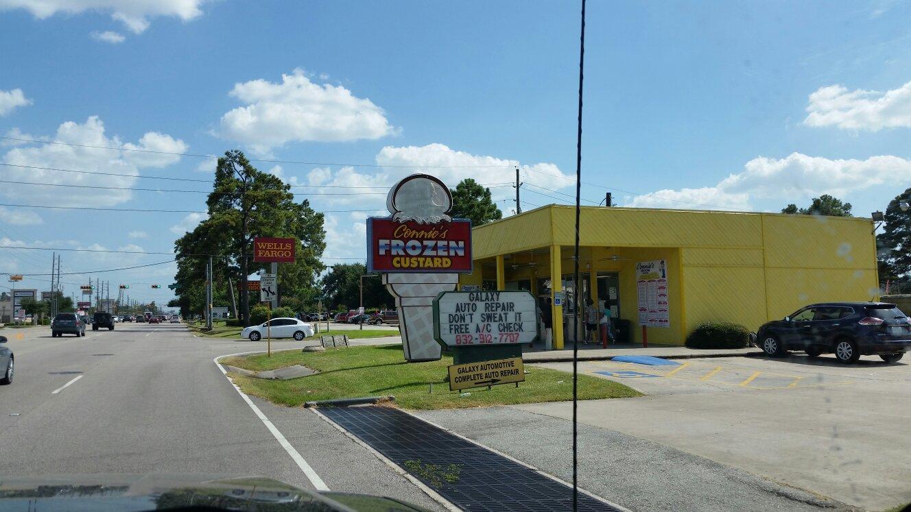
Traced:
<svg viewBox="0 0 911 512">
<path fill-rule="evenodd" d="M 886 182 L 911 179 L 911 160 L 894 156 L 858 159 L 824 159 L 792 153 L 783 159 L 758 157 L 742 172 L 713 187 L 663 189 L 638 196 L 627 206 L 677 209 L 750 210 L 751 200 L 777 200 L 787 204 L 821 194 L 844 196 Z"/>
</svg>

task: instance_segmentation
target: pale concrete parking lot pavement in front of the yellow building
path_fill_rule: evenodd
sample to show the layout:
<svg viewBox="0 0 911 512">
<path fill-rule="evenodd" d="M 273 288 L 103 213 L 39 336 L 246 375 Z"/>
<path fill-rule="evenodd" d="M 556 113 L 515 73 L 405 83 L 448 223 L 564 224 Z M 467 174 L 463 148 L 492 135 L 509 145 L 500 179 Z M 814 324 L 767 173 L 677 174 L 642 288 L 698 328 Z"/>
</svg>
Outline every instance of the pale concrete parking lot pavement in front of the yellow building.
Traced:
<svg viewBox="0 0 911 512">
<path fill-rule="evenodd" d="M 689 363 L 689 364 L 687 364 Z M 569 364 L 542 364 L 568 369 Z M 533 371 L 533 370 L 532 370 Z M 579 364 L 650 396 L 579 404 L 579 421 L 644 437 L 857 507 L 911 501 L 911 368 L 863 357 Z M 630 374 L 625 372 L 635 372 Z M 568 403 L 517 405 L 568 418 Z"/>
</svg>

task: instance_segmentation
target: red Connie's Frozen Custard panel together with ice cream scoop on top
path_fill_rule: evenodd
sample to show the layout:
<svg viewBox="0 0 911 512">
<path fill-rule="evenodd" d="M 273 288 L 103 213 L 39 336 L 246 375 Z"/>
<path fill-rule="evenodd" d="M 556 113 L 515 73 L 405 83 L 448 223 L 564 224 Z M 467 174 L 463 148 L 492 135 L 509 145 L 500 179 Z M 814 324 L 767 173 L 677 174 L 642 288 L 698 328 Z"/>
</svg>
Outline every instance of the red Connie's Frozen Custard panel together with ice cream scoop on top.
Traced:
<svg viewBox="0 0 911 512">
<path fill-rule="evenodd" d="M 452 195 L 433 176 L 415 174 L 390 190 L 392 217 L 367 219 L 367 270 L 471 272 L 471 220 L 452 219 Z"/>
</svg>

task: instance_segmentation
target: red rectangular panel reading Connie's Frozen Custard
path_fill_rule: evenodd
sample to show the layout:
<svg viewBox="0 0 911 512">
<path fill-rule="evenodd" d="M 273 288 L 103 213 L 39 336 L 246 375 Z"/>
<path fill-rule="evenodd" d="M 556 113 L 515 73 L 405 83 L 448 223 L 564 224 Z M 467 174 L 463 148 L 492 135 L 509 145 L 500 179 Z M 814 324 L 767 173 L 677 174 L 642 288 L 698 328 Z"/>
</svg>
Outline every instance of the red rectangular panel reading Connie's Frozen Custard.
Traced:
<svg viewBox="0 0 911 512">
<path fill-rule="evenodd" d="M 367 270 L 470 272 L 471 220 L 419 224 L 385 217 L 367 219 Z"/>
</svg>

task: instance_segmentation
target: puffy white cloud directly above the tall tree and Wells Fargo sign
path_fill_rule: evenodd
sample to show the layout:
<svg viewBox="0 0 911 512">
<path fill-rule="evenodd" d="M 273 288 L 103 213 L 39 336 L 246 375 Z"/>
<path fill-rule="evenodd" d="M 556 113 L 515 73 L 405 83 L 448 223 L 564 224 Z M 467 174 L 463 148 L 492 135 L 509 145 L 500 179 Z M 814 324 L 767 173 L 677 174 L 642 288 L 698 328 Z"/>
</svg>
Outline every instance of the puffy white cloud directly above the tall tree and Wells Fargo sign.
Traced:
<svg viewBox="0 0 911 512">
<path fill-rule="evenodd" d="M 292 141 L 340 142 L 381 138 L 398 130 L 382 108 L 342 86 L 314 84 L 301 69 L 281 83 L 235 84 L 230 96 L 246 104 L 225 113 L 219 135 L 268 153 Z"/>
</svg>

